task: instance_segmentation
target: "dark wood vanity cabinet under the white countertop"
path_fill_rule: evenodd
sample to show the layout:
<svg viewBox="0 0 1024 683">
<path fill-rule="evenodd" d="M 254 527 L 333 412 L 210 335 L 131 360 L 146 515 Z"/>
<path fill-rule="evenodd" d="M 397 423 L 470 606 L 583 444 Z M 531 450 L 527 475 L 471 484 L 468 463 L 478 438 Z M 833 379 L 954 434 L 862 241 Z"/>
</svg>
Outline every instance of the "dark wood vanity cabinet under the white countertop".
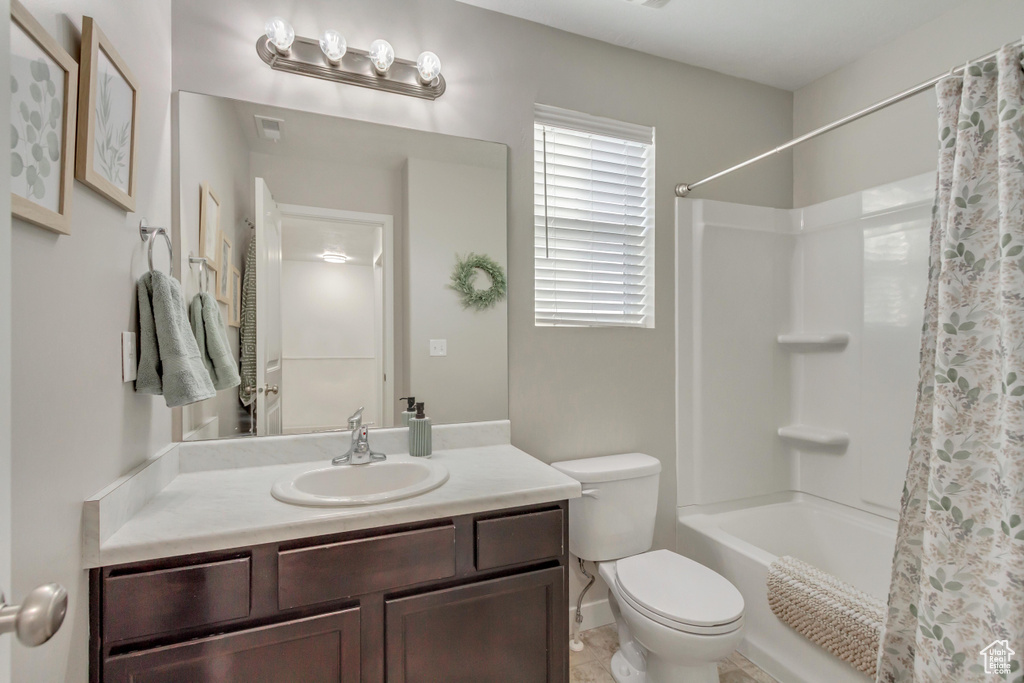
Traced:
<svg viewBox="0 0 1024 683">
<path fill-rule="evenodd" d="M 93 569 L 91 683 L 566 683 L 565 502 Z"/>
</svg>

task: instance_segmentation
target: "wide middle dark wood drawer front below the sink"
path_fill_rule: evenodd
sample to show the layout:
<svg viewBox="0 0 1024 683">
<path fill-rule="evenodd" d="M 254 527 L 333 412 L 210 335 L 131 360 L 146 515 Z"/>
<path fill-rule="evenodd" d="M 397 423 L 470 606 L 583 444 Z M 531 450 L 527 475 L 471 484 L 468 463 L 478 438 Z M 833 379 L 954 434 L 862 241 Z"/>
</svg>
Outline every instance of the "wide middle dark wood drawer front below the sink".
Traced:
<svg viewBox="0 0 1024 683">
<path fill-rule="evenodd" d="M 455 525 L 278 553 L 278 606 L 301 607 L 455 575 Z"/>
</svg>

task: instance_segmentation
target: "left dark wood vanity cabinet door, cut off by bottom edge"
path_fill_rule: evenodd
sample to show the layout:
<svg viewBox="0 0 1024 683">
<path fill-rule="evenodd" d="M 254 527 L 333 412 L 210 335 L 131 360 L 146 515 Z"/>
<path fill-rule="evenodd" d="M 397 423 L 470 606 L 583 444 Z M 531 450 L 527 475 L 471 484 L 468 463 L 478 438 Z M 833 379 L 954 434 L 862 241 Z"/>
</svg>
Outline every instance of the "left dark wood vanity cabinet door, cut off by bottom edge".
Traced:
<svg viewBox="0 0 1024 683">
<path fill-rule="evenodd" d="M 359 610 L 106 659 L 104 683 L 358 683 Z"/>
</svg>

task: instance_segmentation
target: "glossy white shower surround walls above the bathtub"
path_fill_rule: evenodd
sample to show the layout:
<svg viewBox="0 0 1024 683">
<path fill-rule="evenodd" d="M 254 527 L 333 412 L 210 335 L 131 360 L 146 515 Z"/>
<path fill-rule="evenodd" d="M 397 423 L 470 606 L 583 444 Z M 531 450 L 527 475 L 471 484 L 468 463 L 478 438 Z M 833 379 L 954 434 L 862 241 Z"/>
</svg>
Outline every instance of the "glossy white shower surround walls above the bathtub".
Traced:
<svg viewBox="0 0 1024 683">
<path fill-rule="evenodd" d="M 800 490 L 896 518 L 918 387 L 934 175 L 805 209 L 678 200 L 679 505 Z M 680 306 L 683 305 L 682 294 Z M 844 348 L 781 347 L 845 332 Z M 845 447 L 778 437 L 803 424 Z M 690 447 L 687 449 L 687 444 Z"/>
</svg>

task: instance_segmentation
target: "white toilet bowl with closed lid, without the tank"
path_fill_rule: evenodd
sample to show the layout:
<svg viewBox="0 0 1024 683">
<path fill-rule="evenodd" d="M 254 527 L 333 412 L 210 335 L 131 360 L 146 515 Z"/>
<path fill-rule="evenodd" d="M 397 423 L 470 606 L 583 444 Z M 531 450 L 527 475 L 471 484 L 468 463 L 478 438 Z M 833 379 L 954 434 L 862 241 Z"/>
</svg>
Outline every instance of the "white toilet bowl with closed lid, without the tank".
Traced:
<svg viewBox="0 0 1024 683">
<path fill-rule="evenodd" d="M 743 638 L 743 599 L 708 567 L 668 550 L 598 571 L 618 629 L 617 683 L 719 683 L 718 661 Z"/>
</svg>

